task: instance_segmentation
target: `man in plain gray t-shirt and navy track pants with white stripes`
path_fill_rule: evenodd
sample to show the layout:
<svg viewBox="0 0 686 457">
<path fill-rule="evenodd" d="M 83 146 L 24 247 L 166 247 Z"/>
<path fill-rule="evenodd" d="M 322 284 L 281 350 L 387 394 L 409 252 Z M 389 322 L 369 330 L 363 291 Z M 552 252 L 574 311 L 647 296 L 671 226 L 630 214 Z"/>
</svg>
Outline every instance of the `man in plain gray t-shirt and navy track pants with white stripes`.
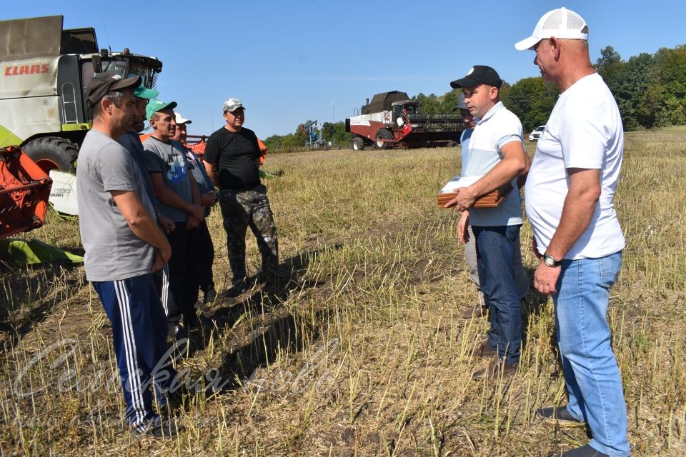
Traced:
<svg viewBox="0 0 686 457">
<path fill-rule="evenodd" d="M 114 141 L 131 128 L 136 116 L 131 89 L 140 81 L 103 73 L 86 88 L 93 128 L 81 145 L 76 171 L 79 228 L 86 278 L 111 322 L 126 421 L 137 433 L 175 436 L 176 423 L 161 421 L 153 411 L 149 388 L 151 380 L 159 380 L 156 392 L 163 404 L 162 393 L 176 376 L 163 360 L 166 318 L 152 278 L 172 250 L 157 227 L 141 169 Z"/>
</svg>

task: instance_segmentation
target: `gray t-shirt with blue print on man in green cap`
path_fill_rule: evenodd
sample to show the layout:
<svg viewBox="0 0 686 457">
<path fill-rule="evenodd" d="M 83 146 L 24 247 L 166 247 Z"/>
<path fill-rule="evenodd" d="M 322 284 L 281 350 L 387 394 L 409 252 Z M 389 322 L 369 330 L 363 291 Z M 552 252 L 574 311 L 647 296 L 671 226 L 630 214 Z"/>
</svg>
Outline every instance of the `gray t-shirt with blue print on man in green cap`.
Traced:
<svg viewBox="0 0 686 457">
<path fill-rule="evenodd" d="M 188 171 L 191 165 L 186 149 L 178 141 L 165 143 L 154 136 L 143 143 L 145 162 L 149 173 L 161 173 L 162 182 L 188 203 L 193 203 Z M 159 211 L 174 222 L 185 222 L 187 212 L 159 202 Z"/>
</svg>

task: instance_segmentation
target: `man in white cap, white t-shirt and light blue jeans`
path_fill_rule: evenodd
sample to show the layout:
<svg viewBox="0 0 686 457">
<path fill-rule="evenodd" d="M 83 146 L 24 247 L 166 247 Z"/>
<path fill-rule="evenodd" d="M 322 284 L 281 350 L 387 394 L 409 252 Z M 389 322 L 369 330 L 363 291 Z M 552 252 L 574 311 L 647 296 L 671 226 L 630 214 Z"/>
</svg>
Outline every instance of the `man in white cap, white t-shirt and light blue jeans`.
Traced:
<svg viewBox="0 0 686 457">
<path fill-rule="evenodd" d="M 561 92 L 538 141 L 525 196 L 541 258 L 534 286 L 555 301 L 569 401 L 537 413 L 590 428 L 590 443 L 556 456 L 628 456 L 622 378 L 607 324 L 610 286 L 625 246 L 612 204 L 624 134 L 617 103 L 591 65 L 587 40 L 584 19 L 560 8 L 515 44 L 536 52 L 543 79 Z"/>
</svg>

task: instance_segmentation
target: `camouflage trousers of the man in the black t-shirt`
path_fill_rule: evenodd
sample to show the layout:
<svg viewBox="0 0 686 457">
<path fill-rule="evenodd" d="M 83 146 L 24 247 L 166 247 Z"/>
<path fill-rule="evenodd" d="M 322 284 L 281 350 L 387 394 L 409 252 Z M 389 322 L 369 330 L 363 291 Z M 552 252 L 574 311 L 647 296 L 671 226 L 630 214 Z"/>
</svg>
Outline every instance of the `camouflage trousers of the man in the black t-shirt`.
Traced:
<svg viewBox="0 0 686 457">
<path fill-rule="evenodd" d="M 229 266 L 233 273 L 233 285 L 239 286 L 246 277 L 245 233 L 250 227 L 262 254 L 262 273 L 269 278 L 278 271 L 279 245 L 274 214 L 269 207 L 267 188 L 260 184 L 247 191 L 224 189 L 219 191 L 224 230 L 227 231 Z"/>
</svg>

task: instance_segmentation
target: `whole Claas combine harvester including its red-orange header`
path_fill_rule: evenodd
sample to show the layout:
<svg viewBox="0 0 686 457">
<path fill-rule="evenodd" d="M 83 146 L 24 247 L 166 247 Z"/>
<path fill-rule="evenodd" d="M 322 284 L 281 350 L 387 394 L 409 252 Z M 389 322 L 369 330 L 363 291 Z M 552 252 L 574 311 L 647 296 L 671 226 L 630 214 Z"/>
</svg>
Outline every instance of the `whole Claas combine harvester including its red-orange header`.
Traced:
<svg viewBox="0 0 686 457">
<path fill-rule="evenodd" d="M 95 30 L 62 16 L 0 21 L 0 238 L 41 226 L 48 203 L 77 214 L 79 147 L 92 119 L 84 89 L 94 74 L 141 76 L 159 59 L 99 49 Z"/>
</svg>

